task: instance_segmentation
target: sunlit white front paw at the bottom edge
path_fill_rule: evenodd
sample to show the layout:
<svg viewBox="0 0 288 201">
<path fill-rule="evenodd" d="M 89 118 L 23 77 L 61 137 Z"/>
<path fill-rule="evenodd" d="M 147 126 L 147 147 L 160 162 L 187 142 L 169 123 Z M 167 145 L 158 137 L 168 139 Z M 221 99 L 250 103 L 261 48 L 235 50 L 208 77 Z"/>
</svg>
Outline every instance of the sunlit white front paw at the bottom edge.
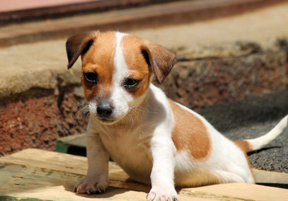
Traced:
<svg viewBox="0 0 288 201">
<path fill-rule="evenodd" d="M 177 192 L 173 187 L 153 187 L 146 196 L 148 201 L 178 201 Z"/>
</svg>

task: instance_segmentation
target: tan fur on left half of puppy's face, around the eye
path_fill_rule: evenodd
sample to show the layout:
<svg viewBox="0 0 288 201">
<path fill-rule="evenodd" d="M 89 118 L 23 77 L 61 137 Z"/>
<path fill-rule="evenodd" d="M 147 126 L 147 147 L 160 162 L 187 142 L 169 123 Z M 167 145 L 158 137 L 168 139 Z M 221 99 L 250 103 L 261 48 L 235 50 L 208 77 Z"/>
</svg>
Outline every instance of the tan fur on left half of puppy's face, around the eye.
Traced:
<svg viewBox="0 0 288 201">
<path fill-rule="evenodd" d="M 116 36 L 114 32 L 98 33 L 93 45 L 82 57 L 82 72 L 95 72 L 98 75 L 97 85 L 86 82 L 84 76 L 81 76 L 87 100 L 92 97 L 105 98 L 110 94 L 115 48 Z"/>
</svg>

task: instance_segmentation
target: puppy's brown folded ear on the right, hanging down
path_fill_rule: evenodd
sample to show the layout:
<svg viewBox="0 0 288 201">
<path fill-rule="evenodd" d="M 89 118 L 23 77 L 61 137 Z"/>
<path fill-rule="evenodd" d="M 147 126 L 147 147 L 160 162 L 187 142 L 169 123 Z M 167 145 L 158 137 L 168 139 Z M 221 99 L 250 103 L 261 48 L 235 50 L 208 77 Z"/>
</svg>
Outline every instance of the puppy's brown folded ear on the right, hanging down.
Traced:
<svg viewBox="0 0 288 201">
<path fill-rule="evenodd" d="M 147 39 L 143 40 L 141 51 L 148 66 L 152 68 L 156 81 L 161 84 L 174 66 L 176 55 Z"/>
</svg>

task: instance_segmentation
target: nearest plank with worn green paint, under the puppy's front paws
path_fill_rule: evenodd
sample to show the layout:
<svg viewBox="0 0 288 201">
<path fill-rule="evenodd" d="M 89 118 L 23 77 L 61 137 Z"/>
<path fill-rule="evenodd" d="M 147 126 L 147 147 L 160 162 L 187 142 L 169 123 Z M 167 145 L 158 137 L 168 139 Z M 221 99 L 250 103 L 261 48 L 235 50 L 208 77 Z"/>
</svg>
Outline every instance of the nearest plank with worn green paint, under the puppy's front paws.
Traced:
<svg viewBox="0 0 288 201">
<path fill-rule="evenodd" d="M 53 171 L 16 164 L 0 166 L 0 200 L 145 200 L 147 191 L 109 187 L 105 193 L 96 195 L 76 194 L 75 182 L 83 175 Z M 149 192 L 149 191 L 148 191 Z M 189 195 L 180 195 L 180 200 L 199 200 Z M 208 200 L 201 198 L 200 201 Z"/>
</svg>

